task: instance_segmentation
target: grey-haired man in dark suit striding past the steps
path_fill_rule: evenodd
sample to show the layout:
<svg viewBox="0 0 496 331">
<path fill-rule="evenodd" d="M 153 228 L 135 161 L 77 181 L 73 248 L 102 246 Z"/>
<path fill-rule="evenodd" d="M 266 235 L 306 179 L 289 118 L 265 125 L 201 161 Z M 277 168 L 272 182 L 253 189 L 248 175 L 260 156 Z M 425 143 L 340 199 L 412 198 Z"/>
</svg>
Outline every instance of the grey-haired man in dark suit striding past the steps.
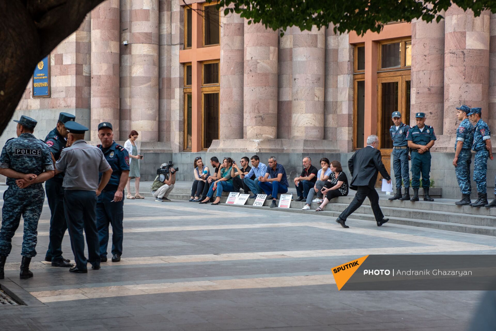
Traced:
<svg viewBox="0 0 496 331">
<path fill-rule="evenodd" d="M 377 226 L 381 226 L 389 220 L 388 218 L 384 218 L 384 214 L 380 210 L 379 195 L 374 188 L 378 172 L 387 180 L 388 184 L 391 183 L 391 177 L 389 177 L 384 164 L 382 164 L 380 150 L 377 149 L 378 143 L 379 138 L 376 135 L 369 135 L 367 146 L 357 150 L 348 160 L 348 168 L 352 176 L 350 189 L 356 190 L 357 194 L 348 208 L 336 219 L 336 222 L 344 228 L 349 228 L 345 224 L 346 219 L 362 205 L 367 197 L 371 200 L 372 211 Z"/>
</svg>

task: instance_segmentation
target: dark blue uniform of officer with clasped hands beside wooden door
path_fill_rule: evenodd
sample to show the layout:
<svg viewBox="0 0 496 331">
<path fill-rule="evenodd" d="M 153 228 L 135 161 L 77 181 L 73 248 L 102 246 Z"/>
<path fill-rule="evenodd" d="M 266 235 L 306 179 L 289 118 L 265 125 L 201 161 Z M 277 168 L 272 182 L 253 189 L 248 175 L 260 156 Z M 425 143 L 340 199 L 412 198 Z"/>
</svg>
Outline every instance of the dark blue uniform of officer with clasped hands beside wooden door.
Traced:
<svg viewBox="0 0 496 331">
<path fill-rule="evenodd" d="M 407 140 L 419 145 L 427 145 L 429 141 L 436 140 L 434 129 L 430 125 L 425 125 L 424 130 L 420 131 L 418 126 L 410 128 L 407 133 Z M 412 148 L 412 188 L 420 187 L 420 174 L 422 173 L 422 187 L 429 189 L 431 181 L 431 152 L 427 151 L 420 154 L 417 149 Z"/>
</svg>

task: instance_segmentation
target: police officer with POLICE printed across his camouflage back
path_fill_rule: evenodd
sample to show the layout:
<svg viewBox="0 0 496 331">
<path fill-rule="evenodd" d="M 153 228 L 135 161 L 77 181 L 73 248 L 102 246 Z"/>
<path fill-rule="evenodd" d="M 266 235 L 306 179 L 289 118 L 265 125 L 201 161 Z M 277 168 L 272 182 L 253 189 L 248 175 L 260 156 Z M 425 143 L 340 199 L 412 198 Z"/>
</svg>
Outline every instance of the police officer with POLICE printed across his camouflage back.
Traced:
<svg viewBox="0 0 496 331">
<path fill-rule="evenodd" d="M 36 256 L 37 228 L 45 192 L 41 183 L 54 177 L 54 163 L 48 146 L 36 139 L 33 130 L 37 122 L 21 116 L 17 122 L 17 138 L 8 139 L 0 155 L 0 174 L 7 177 L 7 191 L 3 194 L 0 229 L 0 279 L 3 279 L 5 260 L 12 249 L 12 237 L 24 219 L 22 262 L 19 277 L 33 276 L 29 271 L 31 258 Z"/>
</svg>

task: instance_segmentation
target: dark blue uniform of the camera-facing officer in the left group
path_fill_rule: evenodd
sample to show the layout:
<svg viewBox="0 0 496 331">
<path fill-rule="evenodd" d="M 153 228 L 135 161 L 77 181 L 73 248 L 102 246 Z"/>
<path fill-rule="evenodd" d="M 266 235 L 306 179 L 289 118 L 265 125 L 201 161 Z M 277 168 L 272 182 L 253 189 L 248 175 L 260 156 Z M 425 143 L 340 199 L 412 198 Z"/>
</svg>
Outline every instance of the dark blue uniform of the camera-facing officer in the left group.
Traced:
<svg viewBox="0 0 496 331">
<path fill-rule="evenodd" d="M 123 218 L 124 199 L 119 202 L 114 200 L 117 188 L 121 181 L 123 171 L 129 171 L 129 154 L 123 146 L 115 141 L 109 148 L 97 145 L 103 152 L 105 159 L 112 167 L 112 176 L 109 183 L 103 189 L 96 203 L 98 238 L 100 240 L 100 257 L 107 257 L 107 245 L 109 242 L 109 224 L 112 225 L 112 255 L 122 255 L 123 252 Z M 102 173 L 100 173 L 100 179 Z"/>
</svg>

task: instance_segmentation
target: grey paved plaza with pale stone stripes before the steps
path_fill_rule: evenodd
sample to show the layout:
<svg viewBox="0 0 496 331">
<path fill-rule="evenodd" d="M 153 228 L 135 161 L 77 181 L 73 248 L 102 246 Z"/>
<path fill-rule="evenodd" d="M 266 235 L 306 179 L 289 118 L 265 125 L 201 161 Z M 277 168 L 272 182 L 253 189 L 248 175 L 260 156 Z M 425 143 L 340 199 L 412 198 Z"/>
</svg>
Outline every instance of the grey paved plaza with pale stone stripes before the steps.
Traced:
<svg viewBox="0 0 496 331">
<path fill-rule="evenodd" d="M 5 187 L 0 187 L 1 191 Z M 352 216 L 353 217 L 353 216 Z M 462 331 L 482 292 L 338 291 L 331 268 L 368 254 L 496 254 L 491 236 L 183 200 L 125 200 L 120 263 L 73 274 L 42 260 L 20 280 L 22 223 L 0 284 L 0 330 Z M 69 237 L 64 257 L 73 260 Z"/>
</svg>

